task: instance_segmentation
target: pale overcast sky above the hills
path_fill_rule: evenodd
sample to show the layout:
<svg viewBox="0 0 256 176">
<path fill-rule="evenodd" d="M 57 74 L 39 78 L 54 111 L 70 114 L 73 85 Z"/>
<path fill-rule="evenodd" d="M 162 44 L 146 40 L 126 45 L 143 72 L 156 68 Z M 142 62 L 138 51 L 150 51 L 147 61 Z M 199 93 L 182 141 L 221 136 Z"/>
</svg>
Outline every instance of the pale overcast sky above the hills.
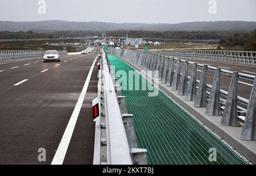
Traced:
<svg viewBox="0 0 256 176">
<path fill-rule="evenodd" d="M 42 0 L 41 0 L 42 1 Z M 44 0 L 46 14 L 38 13 L 39 0 L 0 0 L 0 20 L 115 23 L 181 23 L 216 20 L 256 21 L 256 0 Z"/>
</svg>

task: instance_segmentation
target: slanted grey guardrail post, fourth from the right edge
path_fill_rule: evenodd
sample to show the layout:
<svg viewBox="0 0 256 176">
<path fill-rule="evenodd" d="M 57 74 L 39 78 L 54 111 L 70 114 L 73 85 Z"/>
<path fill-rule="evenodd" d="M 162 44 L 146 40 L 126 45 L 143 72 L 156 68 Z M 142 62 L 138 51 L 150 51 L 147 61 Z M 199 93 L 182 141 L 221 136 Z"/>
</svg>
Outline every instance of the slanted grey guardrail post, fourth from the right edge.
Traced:
<svg viewBox="0 0 256 176">
<path fill-rule="evenodd" d="M 207 65 L 203 66 L 194 107 L 207 106 Z"/>
</svg>

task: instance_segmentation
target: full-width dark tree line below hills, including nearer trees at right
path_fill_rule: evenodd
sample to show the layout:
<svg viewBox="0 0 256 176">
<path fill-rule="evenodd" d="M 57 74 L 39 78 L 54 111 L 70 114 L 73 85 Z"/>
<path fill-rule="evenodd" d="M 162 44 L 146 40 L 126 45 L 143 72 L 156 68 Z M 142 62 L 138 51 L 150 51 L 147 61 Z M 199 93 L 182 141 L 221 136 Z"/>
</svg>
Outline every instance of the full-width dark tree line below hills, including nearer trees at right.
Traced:
<svg viewBox="0 0 256 176">
<path fill-rule="evenodd" d="M 0 31 L 0 39 L 58 39 L 62 37 L 117 36 L 152 39 L 220 40 L 220 47 L 241 46 L 246 50 L 256 51 L 256 30 L 238 31 Z"/>
</svg>

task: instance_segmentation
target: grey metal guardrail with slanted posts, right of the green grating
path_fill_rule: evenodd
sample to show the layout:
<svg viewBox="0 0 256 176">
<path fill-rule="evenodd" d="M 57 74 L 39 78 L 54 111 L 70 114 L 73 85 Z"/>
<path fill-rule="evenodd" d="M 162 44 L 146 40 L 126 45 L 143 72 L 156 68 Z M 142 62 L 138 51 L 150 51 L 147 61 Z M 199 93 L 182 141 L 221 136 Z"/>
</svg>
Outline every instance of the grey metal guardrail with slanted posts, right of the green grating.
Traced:
<svg viewBox="0 0 256 176">
<path fill-rule="evenodd" d="M 221 125 L 239 127 L 238 116 L 245 115 L 244 121 L 240 120 L 243 123 L 241 139 L 256 140 L 256 77 L 151 52 L 109 49 L 109 53 L 143 70 L 158 71 L 159 81 L 171 87 L 172 91 L 177 91 L 177 95 L 185 95 L 185 100 L 195 101 L 194 107 L 206 107 L 207 115 L 222 115 Z M 177 64 L 174 69 L 175 60 Z M 181 62 L 184 63 L 182 73 Z M 190 77 L 189 64 L 193 65 Z M 196 79 L 197 66 L 203 67 L 200 80 Z M 212 85 L 207 84 L 208 69 L 215 72 Z M 232 77 L 228 92 L 220 89 L 221 74 Z M 250 100 L 237 96 L 238 77 L 253 81 Z M 220 97 L 221 94 L 225 99 Z M 237 106 L 238 102 L 247 108 Z"/>
</svg>

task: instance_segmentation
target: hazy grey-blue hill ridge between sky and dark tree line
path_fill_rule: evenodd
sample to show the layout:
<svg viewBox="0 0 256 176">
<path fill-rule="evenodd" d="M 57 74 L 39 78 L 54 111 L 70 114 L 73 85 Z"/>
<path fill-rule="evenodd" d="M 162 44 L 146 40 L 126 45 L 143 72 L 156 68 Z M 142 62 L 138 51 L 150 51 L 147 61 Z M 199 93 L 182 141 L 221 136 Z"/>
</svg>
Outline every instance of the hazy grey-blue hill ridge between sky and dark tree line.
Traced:
<svg viewBox="0 0 256 176">
<path fill-rule="evenodd" d="M 0 31 L 253 31 L 255 29 L 256 22 L 245 21 L 187 22 L 177 24 L 67 22 L 63 20 L 40 22 L 0 21 Z"/>
</svg>

